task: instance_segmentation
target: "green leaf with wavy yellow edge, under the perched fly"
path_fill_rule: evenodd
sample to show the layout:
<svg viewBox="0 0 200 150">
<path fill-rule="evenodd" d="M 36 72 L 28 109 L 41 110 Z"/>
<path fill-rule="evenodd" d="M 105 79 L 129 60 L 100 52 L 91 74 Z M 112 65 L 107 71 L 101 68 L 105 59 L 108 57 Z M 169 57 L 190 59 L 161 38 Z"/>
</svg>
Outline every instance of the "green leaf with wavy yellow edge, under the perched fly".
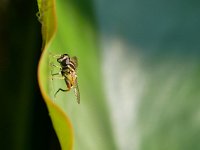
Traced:
<svg viewBox="0 0 200 150">
<path fill-rule="evenodd" d="M 57 0 L 55 9 L 54 4 L 54 1 L 38 1 L 44 42 L 38 80 L 61 147 L 72 149 L 75 140 L 74 149 L 116 149 L 102 86 L 95 22 L 88 12 L 91 5 L 85 2 L 84 7 L 89 8 L 82 9 L 74 1 Z M 66 89 L 66 84 L 50 79 L 51 71 L 59 71 L 50 66 L 57 63 L 51 55 L 63 53 L 78 57 L 80 105 L 73 91 L 59 92 L 54 98 L 54 93 L 59 88 Z"/>
</svg>

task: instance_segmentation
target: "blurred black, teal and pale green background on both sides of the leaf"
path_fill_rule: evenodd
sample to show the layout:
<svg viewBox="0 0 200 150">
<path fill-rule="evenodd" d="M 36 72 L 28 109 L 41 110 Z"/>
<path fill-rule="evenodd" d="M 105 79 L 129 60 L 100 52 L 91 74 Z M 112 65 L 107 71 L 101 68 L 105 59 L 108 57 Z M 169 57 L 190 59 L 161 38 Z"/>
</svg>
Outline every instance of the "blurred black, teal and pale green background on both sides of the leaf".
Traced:
<svg viewBox="0 0 200 150">
<path fill-rule="evenodd" d="M 70 2 L 98 35 L 113 147 L 200 149 L 200 2 Z M 0 1 L 0 149 L 60 149 L 37 84 L 36 12 L 33 0 Z"/>
</svg>

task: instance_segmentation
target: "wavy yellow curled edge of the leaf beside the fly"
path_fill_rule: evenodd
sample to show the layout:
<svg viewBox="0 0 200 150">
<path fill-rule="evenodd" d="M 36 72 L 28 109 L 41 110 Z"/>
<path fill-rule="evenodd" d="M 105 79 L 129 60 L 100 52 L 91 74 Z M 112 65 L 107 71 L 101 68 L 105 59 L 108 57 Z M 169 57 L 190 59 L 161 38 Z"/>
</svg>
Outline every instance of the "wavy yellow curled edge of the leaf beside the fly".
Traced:
<svg viewBox="0 0 200 150">
<path fill-rule="evenodd" d="M 38 81 L 48 107 L 54 129 L 58 135 L 63 150 L 72 149 L 73 131 L 67 115 L 60 109 L 50 98 L 49 91 L 49 63 L 48 47 L 56 32 L 56 15 L 54 0 L 38 0 L 39 16 L 38 19 L 42 24 L 43 53 L 38 66 Z"/>
</svg>

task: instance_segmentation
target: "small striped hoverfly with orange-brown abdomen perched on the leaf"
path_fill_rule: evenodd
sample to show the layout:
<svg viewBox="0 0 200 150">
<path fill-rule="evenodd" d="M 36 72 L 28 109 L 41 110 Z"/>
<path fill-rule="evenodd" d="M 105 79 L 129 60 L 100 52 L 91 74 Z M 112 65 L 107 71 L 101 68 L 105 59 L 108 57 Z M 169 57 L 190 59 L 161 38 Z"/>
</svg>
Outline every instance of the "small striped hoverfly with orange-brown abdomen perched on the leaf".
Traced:
<svg viewBox="0 0 200 150">
<path fill-rule="evenodd" d="M 67 92 L 73 88 L 75 96 L 77 98 L 77 102 L 78 104 L 80 104 L 80 93 L 76 73 L 78 67 L 77 57 L 70 57 L 68 54 L 54 55 L 53 57 L 57 58 L 57 62 L 60 64 L 60 66 L 57 66 L 55 64 L 52 65 L 54 67 L 60 68 L 60 72 L 52 74 L 52 77 L 65 80 L 65 83 L 67 85 L 66 90 L 59 88 L 55 92 L 54 97 L 56 97 L 59 91 Z"/>
</svg>

